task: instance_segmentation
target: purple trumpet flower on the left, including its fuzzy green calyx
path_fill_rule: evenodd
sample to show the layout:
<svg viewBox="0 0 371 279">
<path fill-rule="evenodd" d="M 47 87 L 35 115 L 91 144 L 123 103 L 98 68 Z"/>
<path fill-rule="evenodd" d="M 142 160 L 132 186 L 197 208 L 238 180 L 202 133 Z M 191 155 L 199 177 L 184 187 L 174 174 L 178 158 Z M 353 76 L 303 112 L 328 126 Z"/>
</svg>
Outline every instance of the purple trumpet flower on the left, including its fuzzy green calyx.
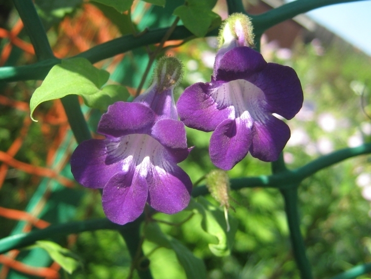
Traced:
<svg viewBox="0 0 371 279">
<path fill-rule="evenodd" d="M 85 187 L 103 188 L 103 210 L 114 223 L 134 221 L 146 202 L 167 214 L 188 205 L 192 183 L 177 163 L 190 149 L 173 98 L 181 77 L 178 59 L 159 60 L 145 93 L 132 103 L 116 102 L 103 114 L 97 131 L 106 138 L 85 141 L 72 154 L 74 178 Z"/>
</svg>

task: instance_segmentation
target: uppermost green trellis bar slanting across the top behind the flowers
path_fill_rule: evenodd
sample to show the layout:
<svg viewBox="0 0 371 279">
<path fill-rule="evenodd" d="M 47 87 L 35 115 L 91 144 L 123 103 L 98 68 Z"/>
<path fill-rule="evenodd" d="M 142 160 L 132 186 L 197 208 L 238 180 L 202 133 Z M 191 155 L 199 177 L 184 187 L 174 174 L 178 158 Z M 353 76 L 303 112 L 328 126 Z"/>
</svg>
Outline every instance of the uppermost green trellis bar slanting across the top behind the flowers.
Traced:
<svg viewBox="0 0 371 279">
<path fill-rule="evenodd" d="M 18 0 L 21 2 L 20 0 Z M 29 1 L 29 0 L 27 0 Z M 312 9 L 340 3 L 357 2 L 365 0 L 297 0 L 273 9 L 269 12 L 258 16 L 252 16 L 253 24 L 255 26 L 256 36 L 263 33 L 264 30 L 290 19 L 298 14 L 308 12 Z M 132 34 L 122 36 L 95 46 L 85 52 L 81 52 L 75 57 L 87 58 L 90 62 L 96 63 L 103 59 L 110 58 L 120 53 L 125 53 L 135 48 L 156 44 L 161 41 L 168 28 L 154 29 L 146 32 L 140 37 L 135 37 Z M 215 29 L 207 34 L 207 36 L 217 36 L 218 30 Z M 170 36 L 169 40 L 183 40 L 191 37 L 192 33 L 184 26 L 177 26 Z M 44 62 L 44 61 L 43 61 Z M 59 60 L 53 58 L 51 61 L 44 63 L 37 62 L 32 65 L 24 65 L 18 67 L 0 67 L 0 80 L 13 82 L 20 80 L 43 80 L 48 74 L 52 66 L 59 63 Z"/>
</svg>

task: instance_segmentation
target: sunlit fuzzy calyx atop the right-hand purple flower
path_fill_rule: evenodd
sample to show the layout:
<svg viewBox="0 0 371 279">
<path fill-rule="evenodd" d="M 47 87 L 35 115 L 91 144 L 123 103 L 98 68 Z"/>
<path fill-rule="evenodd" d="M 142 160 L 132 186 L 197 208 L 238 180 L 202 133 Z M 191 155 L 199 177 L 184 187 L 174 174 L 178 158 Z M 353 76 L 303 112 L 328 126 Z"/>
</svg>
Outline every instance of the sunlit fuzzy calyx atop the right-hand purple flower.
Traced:
<svg viewBox="0 0 371 279">
<path fill-rule="evenodd" d="M 235 43 L 237 47 L 254 46 L 253 24 L 251 19 L 242 14 L 230 15 L 219 32 L 219 48 Z"/>
</svg>

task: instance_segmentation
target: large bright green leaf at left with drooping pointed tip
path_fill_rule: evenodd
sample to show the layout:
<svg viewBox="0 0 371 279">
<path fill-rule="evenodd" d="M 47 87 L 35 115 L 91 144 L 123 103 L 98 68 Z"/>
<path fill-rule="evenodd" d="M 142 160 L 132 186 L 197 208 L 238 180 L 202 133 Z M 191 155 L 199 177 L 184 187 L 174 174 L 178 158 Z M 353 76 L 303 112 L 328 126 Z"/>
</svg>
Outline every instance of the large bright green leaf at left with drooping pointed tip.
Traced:
<svg viewBox="0 0 371 279">
<path fill-rule="evenodd" d="M 127 100 L 129 93 L 120 85 L 100 89 L 108 80 L 109 73 L 97 69 L 85 58 L 62 60 L 55 65 L 30 100 L 31 118 L 35 108 L 42 102 L 76 94 L 84 98 L 87 106 L 105 110 L 114 101 Z"/>
</svg>

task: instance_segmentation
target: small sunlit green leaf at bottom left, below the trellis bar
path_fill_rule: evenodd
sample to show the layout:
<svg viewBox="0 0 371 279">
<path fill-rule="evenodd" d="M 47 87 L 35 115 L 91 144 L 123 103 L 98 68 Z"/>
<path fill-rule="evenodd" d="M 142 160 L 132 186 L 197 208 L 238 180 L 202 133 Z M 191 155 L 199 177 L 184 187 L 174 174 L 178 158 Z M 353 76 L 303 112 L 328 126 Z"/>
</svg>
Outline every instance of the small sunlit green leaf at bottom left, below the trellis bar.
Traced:
<svg viewBox="0 0 371 279">
<path fill-rule="evenodd" d="M 81 265 L 76 255 L 53 241 L 39 240 L 36 241 L 36 246 L 47 251 L 49 256 L 69 274 L 72 274 Z"/>
</svg>

